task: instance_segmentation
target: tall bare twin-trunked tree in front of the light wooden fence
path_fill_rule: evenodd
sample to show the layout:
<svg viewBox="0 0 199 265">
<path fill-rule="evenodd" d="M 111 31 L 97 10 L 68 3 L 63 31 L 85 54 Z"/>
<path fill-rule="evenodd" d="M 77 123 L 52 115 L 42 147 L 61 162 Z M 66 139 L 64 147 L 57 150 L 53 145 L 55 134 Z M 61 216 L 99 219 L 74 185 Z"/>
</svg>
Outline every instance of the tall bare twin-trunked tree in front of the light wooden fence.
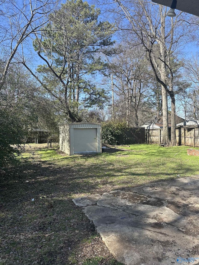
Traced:
<svg viewBox="0 0 199 265">
<path fill-rule="evenodd" d="M 167 8 L 150 1 L 120 1 L 115 13 L 120 15 L 120 29 L 131 30 L 139 39 L 154 72 L 156 80 L 162 87 L 163 108 L 163 144 L 169 144 L 167 94 L 171 98 L 171 145 L 176 144 L 175 135 L 175 96 L 173 91 L 173 52 L 183 43 L 184 30 L 181 12 L 175 19 L 166 17 Z M 122 19 L 123 18 L 123 19 Z M 124 22 L 124 20 L 126 22 Z M 128 23 L 127 23 L 128 21 Z M 126 27 L 128 25 L 128 28 Z M 178 28 L 177 28 L 178 27 Z M 180 28 L 180 30 L 178 30 Z M 177 32 L 178 31 L 178 32 Z"/>
</svg>

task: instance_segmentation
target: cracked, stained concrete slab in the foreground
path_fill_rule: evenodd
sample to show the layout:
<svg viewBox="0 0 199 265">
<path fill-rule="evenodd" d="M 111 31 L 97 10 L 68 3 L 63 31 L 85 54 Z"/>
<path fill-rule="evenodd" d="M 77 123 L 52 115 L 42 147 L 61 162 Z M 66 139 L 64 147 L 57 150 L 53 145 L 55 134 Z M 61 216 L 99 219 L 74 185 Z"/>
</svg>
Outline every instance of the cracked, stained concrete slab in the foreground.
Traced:
<svg viewBox="0 0 199 265">
<path fill-rule="evenodd" d="M 73 199 L 113 256 L 126 265 L 198 258 L 199 178 L 178 178 Z M 180 264 L 188 264 L 182 261 Z"/>
</svg>

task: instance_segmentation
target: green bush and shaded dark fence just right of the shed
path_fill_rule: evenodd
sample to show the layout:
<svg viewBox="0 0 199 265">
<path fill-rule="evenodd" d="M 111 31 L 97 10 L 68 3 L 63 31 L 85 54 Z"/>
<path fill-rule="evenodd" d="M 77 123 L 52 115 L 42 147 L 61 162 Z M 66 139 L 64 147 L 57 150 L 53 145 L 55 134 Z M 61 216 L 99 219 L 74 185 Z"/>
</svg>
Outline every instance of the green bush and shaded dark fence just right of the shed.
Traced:
<svg viewBox="0 0 199 265">
<path fill-rule="evenodd" d="M 102 124 L 104 144 L 142 144 L 145 143 L 145 129 L 131 128 L 125 122 L 109 121 Z"/>
</svg>

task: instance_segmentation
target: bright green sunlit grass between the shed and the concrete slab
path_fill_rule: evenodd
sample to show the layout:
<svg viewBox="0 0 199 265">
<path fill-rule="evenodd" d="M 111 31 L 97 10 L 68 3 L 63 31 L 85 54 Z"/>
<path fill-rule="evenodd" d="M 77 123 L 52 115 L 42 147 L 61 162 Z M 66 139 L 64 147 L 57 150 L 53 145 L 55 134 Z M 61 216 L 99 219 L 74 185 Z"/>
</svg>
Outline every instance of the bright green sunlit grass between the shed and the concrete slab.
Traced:
<svg viewBox="0 0 199 265">
<path fill-rule="evenodd" d="M 135 144 L 125 151 L 120 148 L 115 153 L 86 156 L 60 155 L 53 149 L 43 149 L 36 153 L 41 161 L 72 169 L 76 177 L 70 185 L 76 186 L 76 190 L 73 190 L 71 196 L 93 193 L 98 188 L 106 190 L 106 185 L 108 190 L 109 185 L 118 189 L 199 174 L 198 157 L 188 156 L 188 147 L 162 148 L 159 145 Z M 24 155 L 27 157 L 27 154 Z"/>
</svg>

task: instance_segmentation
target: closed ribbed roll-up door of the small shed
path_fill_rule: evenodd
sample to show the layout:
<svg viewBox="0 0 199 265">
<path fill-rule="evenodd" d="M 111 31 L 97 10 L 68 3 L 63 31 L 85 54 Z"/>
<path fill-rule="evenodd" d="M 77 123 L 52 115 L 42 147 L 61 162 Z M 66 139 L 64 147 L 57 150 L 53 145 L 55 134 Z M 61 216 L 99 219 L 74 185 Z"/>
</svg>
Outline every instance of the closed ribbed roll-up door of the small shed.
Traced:
<svg viewBox="0 0 199 265">
<path fill-rule="evenodd" d="M 97 129 L 74 129 L 74 154 L 97 152 Z"/>
</svg>

